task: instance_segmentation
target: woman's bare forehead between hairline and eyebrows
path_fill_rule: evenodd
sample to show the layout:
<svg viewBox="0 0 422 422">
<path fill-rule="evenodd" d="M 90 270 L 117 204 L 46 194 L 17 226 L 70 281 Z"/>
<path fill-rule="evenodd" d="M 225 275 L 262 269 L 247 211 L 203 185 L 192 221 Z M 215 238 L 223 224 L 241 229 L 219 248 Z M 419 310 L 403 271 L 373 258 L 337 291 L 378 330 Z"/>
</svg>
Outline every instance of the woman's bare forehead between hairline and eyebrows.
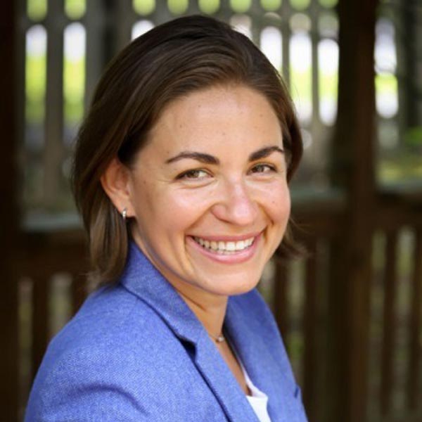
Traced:
<svg viewBox="0 0 422 422">
<path fill-rule="evenodd" d="M 281 125 L 267 98 L 242 85 L 195 91 L 167 105 L 146 149 L 160 155 L 180 149 L 282 146 Z"/>
</svg>

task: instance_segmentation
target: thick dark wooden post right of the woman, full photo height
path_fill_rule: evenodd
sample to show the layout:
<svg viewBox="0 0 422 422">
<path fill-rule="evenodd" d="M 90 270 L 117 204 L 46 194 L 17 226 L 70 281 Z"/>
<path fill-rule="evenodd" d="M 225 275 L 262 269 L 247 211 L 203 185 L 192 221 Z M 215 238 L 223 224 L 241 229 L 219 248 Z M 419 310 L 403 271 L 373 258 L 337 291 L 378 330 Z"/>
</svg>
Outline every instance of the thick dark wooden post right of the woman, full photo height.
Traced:
<svg viewBox="0 0 422 422">
<path fill-rule="evenodd" d="M 365 422 L 371 245 L 375 212 L 376 0 L 340 0 L 338 119 L 331 180 L 347 195 L 346 221 L 331 244 L 328 286 L 328 422 Z"/>
</svg>

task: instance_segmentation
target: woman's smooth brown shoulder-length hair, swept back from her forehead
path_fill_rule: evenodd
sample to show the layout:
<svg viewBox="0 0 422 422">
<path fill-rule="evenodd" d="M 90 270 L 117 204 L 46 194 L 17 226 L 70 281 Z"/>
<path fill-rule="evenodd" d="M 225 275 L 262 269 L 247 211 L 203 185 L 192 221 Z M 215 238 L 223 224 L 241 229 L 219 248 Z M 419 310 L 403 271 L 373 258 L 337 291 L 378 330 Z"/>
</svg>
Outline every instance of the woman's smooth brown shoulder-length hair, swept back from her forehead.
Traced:
<svg viewBox="0 0 422 422">
<path fill-rule="evenodd" d="M 302 139 L 279 72 L 243 34 L 213 18 L 193 15 L 134 39 L 110 63 L 77 136 L 72 187 L 89 236 L 94 274 L 115 281 L 127 258 L 128 227 L 100 178 L 116 156 L 130 165 L 165 106 L 182 95 L 221 84 L 263 94 L 279 118 L 288 152 L 288 180 L 298 167 Z M 285 236 L 281 255 L 293 250 Z"/>
</svg>

